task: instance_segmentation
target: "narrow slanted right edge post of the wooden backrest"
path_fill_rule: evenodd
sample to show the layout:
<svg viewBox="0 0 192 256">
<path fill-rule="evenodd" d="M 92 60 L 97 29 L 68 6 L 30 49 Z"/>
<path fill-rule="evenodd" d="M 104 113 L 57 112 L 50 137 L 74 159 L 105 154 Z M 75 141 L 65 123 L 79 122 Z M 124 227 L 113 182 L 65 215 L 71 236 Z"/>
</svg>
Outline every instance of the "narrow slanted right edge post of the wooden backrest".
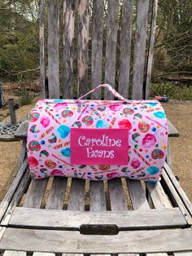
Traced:
<svg viewBox="0 0 192 256">
<path fill-rule="evenodd" d="M 151 80 L 151 70 L 152 70 L 153 53 L 154 53 L 154 43 L 155 43 L 157 6 L 158 6 L 158 0 L 153 0 L 152 15 L 151 15 L 150 45 L 149 45 L 149 52 L 148 52 L 147 65 L 146 65 L 146 85 L 145 85 L 146 88 L 144 88 L 145 99 L 149 99 L 149 96 L 150 96 L 150 80 Z"/>
</svg>

